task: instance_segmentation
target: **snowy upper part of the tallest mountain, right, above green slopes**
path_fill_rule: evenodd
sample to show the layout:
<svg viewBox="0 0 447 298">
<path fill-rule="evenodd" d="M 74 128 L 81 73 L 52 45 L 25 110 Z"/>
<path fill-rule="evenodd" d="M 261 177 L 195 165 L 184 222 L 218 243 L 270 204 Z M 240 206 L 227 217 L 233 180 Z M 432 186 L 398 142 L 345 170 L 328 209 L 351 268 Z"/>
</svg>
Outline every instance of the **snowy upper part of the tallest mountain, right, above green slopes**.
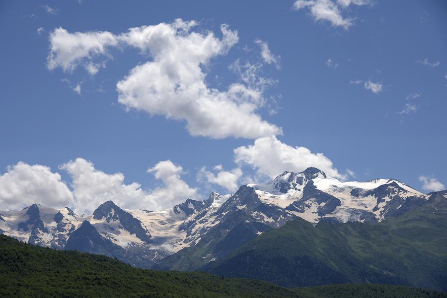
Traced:
<svg viewBox="0 0 447 298">
<path fill-rule="evenodd" d="M 306 221 L 382 221 L 424 204 L 428 196 L 395 179 L 366 182 L 326 177 L 316 168 L 284 172 L 255 188 L 261 201 L 277 205 Z"/>
</svg>

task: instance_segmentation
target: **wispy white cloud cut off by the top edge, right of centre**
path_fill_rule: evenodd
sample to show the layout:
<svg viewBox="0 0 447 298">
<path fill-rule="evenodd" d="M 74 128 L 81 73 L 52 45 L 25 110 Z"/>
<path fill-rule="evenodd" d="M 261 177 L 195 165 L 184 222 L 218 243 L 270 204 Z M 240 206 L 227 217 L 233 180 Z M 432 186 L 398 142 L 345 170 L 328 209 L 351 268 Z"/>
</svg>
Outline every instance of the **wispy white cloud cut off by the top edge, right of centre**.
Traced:
<svg viewBox="0 0 447 298">
<path fill-rule="evenodd" d="M 342 10 L 353 5 L 371 4 L 370 0 L 297 0 L 294 3 L 294 9 L 308 8 L 310 15 L 316 21 L 329 21 L 334 27 L 343 27 L 348 29 L 353 25 L 353 19 L 343 17 Z"/>
</svg>

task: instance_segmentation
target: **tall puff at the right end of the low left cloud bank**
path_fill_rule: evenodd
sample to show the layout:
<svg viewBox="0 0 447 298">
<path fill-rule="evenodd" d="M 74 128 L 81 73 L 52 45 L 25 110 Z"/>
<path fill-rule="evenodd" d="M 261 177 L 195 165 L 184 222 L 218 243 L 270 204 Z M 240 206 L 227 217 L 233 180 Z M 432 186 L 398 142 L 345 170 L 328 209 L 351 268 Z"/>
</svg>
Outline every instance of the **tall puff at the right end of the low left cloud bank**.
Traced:
<svg viewBox="0 0 447 298">
<path fill-rule="evenodd" d="M 182 203 L 185 199 L 199 199 L 197 188 L 191 188 L 180 178 L 183 168 L 175 165 L 170 160 L 157 163 L 148 169 L 148 173 L 153 173 L 156 179 L 163 182 L 163 187 L 157 187 L 148 195 L 148 198 L 161 208 L 172 207 Z"/>
</svg>

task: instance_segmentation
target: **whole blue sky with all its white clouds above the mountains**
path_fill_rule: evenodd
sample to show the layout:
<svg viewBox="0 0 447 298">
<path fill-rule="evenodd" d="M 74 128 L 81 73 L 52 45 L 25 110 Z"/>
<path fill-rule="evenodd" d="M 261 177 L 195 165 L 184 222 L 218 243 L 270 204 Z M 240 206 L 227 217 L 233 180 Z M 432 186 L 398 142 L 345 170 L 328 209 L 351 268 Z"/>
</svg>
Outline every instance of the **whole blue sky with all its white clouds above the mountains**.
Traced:
<svg viewBox="0 0 447 298">
<path fill-rule="evenodd" d="M 155 209 L 310 165 L 447 184 L 445 1 L 2 1 L 0 31 L 0 209 Z"/>
</svg>

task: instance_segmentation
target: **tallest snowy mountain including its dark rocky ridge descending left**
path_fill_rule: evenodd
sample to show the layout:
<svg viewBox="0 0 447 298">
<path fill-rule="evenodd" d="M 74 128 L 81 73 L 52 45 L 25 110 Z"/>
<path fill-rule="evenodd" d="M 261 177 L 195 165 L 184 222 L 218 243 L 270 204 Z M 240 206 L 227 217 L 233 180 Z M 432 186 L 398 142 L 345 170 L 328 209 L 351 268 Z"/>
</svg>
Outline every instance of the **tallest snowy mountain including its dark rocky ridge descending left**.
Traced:
<svg viewBox="0 0 447 298">
<path fill-rule="evenodd" d="M 322 220 L 382 221 L 427 201 L 427 195 L 394 179 L 342 182 L 316 168 L 284 172 L 265 184 L 241 186 L 210 215 L 195 245 L 162 259 L 155 268 L 200 269 L 296 217 L 313 224 Z"/>
</svg>

